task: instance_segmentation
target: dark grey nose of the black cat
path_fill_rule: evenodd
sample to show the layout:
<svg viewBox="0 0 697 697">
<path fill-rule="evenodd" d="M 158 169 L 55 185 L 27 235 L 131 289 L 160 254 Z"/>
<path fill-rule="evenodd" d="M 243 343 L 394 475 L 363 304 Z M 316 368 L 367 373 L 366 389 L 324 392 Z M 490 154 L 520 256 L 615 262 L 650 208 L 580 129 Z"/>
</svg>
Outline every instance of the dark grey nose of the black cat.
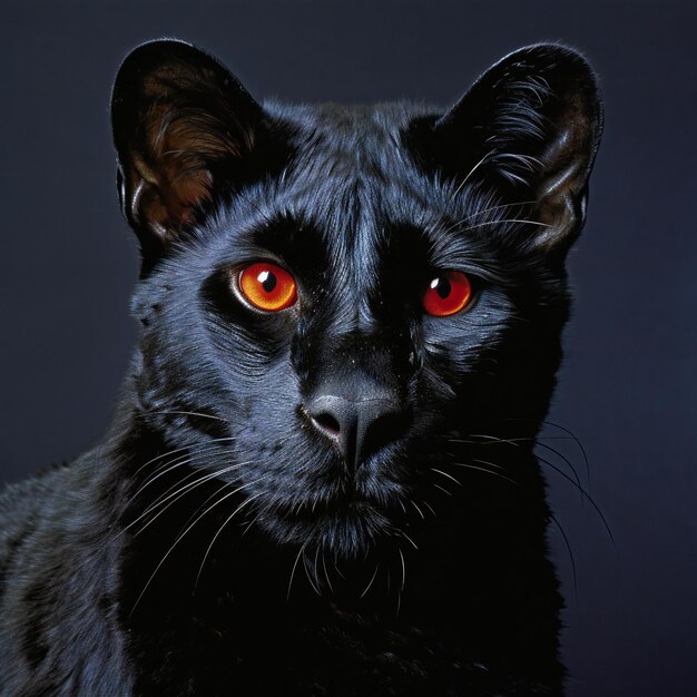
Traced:
<svg viewBox="0 0 697 697">
<path fill-rule="evenodd" d="M 405 411 L 387 390 L 357 399 L 321 394 L 306 403 L 305 411 L 313 425 L 336 443 L 352 471 L 405 430 Z"/>
</svg>

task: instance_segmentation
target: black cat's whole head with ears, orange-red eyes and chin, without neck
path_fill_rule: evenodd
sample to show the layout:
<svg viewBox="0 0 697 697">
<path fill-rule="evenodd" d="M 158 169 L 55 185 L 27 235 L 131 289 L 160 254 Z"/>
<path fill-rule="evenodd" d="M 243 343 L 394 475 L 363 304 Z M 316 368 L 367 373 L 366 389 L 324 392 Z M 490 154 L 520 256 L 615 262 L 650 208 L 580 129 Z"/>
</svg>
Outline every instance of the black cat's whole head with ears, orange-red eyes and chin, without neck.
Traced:
<svg viewBox="0 0 697 697">
<path fill-rule="evenodd" d="M 445 114 L 263 108 L 160 41 L 114 127 L 141 416 L 275 541 L 362 554 L 475 469 L 457 443 L 534 432 L 600 131 L 578 55 L 523 49 Z"/>
</svg>

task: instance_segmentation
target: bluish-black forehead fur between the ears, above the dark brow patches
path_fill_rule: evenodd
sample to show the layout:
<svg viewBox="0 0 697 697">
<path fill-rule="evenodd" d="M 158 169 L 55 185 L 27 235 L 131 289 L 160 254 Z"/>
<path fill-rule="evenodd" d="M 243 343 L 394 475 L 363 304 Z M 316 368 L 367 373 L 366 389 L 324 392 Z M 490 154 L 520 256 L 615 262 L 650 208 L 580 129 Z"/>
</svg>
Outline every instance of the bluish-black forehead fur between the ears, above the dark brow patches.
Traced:
<svg viewBox="0 0 697 697">
<path fill-rule="evenodd" d="M 281 185 L 266 188 L 271 207 L 354 230 L 385 223 L 430 226 L 468 207 L 449 183 L 415 165 L 403 141 L 410 124 L 435 115 L 433 108 L 412 102 L 267 108 L 293 126 L 293 155 Z"/>
</svg>

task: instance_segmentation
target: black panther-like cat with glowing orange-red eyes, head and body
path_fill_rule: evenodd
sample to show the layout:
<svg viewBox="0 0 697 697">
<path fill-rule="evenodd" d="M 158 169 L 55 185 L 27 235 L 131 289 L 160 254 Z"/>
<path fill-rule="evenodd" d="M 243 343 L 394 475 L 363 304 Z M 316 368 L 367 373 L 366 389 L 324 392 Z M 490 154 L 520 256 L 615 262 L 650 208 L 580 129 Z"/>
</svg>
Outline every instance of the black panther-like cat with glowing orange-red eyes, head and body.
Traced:
<svg viewBox="0 0 697 697">
<path fill-rule="evenodd" d="M 556 45 L 445 112 L 130 53 L 139 347 L 106 440 L 0 497 L 0 693 L 560 695 L 533 446 L 601 120 Z"/>
</svg>

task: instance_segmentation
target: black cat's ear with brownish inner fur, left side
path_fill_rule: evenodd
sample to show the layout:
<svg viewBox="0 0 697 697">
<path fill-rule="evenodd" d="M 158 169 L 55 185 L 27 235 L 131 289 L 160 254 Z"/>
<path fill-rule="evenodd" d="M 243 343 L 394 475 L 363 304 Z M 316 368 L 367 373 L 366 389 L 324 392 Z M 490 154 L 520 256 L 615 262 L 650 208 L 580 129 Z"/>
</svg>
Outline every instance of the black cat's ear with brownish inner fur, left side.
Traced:
<svg viewBox="0 0 697 697">
<path fill-rule="evenodd" d="M 166 251 L 213 186 L 245 170 L 262 107 L 220 63 L 193 46 L 159 40 L 121 65 L 111 97 L 124 215 L 144 261 Z"/>
</svg>

